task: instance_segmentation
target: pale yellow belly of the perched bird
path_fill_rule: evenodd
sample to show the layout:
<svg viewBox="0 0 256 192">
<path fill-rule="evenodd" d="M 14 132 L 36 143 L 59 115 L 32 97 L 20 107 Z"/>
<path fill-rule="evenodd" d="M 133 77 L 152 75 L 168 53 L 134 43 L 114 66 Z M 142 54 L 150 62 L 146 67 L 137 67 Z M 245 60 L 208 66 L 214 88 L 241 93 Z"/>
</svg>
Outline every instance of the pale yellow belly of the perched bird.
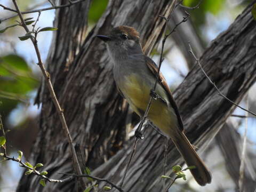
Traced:
<svg viewBox="0 0 256 192">
<path fill-rule="evenodd" d="M 125 84 L 121 88 L 125 98 L 129 102 L 130 106 L 138 115 L 141 114 L 141 110 L 144 113 L 146 111 L 148 102 L 150 100 L 150 90 L 154 85 L 149 85 L 144 79 L 131 75 L 126 77 Z M 169 102 L 166 91 L 161 85 L 157 85 L 157 94 L 159 94 L 165 101 Z M 169 107 L 161 99 L 153 100 L 150 107 L 148 118 L 165 134 L 171 137 L 172 132 L 178 127 L 177 116 L 174 113 L 172 107 Z"/>
</svg>

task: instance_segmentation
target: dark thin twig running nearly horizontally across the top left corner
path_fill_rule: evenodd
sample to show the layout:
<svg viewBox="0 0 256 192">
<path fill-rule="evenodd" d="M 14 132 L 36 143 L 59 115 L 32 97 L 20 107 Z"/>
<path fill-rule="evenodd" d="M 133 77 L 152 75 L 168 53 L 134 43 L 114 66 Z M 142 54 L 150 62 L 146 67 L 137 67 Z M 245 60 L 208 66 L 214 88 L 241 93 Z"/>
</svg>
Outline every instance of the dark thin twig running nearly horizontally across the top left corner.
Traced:
<svg viewBox="0 0 256 192">
<path fill-rule="evenodd" d="M 68 4 L 65 4 L 65 5 L 58 5 L 58 6 L 51 6 L 51 7 L 47 7 L 47 8 L 43 8 L 43 9 L 37 9 L 37 10 L 31 10 L 31 11 L 22 11 L 20 12 L 21 14 L 28 14 L 28 13 L 36 13 L 36 12 L 42 12 L 42 11 L 48 11 L 48 10 L 53 10 L 53 9 L 61 9 L 63 7 L 70 7 L 71 5 L 74 5 L 74 4 L 77 4 L 77 3 L 81 3 L 85 0 L 77 0 L 77 1 L 74 1 L 74 2 L 69 2 Z M 0 4 L 0 6 L 2 7 L 5 7 L 6 9 L 10 9 L 9 7 L 6 7 L 2 4 Z M 12 10 L 10 10 L 12 11 Z M 15 12 L 15 10 L 13 10 Z M 11 15 L 10 17 L 6 17 L 6 18 L 3 18 L 3 19 L 0 19 L 0 23 L 3 22 L 3 21 L 6 21 L 8 19 L 11 19 L 11 18 L 14 18 L 18 16 L 18 14 L 14 14 L 14 15 Z"/>
</svg>

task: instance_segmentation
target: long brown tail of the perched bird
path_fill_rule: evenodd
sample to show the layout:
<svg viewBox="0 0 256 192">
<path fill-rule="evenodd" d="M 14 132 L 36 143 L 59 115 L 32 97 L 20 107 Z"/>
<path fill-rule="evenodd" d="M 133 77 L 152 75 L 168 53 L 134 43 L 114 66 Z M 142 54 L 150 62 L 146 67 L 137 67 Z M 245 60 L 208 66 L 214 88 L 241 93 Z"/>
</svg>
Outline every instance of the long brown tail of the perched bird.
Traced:
<svg viewBox="0 0 256 192">
<path fill-rule="evenodd" d="M 206 183 L 211 183 L 212 175 L 210 171 L 207 169 L 202 159 L 197 155 L 186 135 L 183 132 L 180 132 L 180 134 L 175 136 L 176 137 L 172 140 L 180 154 L 185 159 L 187 165 L 196 166 L 196 168 L 191 169 L 190 172 L 194 176 L 197 183 L 201 186 L 205 186 Z"/>
</svg>

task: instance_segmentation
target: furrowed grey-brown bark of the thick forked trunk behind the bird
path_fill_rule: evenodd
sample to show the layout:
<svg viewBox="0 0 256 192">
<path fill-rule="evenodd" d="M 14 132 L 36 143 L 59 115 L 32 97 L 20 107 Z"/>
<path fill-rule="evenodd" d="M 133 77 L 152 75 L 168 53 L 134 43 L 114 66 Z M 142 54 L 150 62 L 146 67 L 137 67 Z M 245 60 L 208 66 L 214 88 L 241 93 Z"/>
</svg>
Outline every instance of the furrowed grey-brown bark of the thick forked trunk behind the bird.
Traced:
<svg viewBox="0 0 256 192">
<path fill-rule="evenodd" d="M 118 25 L 133 26 L 140 31 L 143 49 L 148 54 L 161 37 L 164 21 L 158 14 L 167 16 L 171 3 L 167 0 L 109 1 L 106 12 L 85 40 L 71 38 L 84 30 L 83 25 L 78 25 L 87 17 L 78 11 L 81 5 L 60 10 L 55 18 L 58 28 L 65 24 L 67 27 L 54 36 L 47 60 L 48 70 L 71 135 L 78 151 L 81 151 L 81 164 L 89 166 L 93 170 L 92 175 L 109 179 L 117 185 L 121 182 L 134 140 L 124 143 L 127 105 L 116 91 L 106 47 L 94 36 L 106 34 Z M 212 42 L 201 58 L 206 73 L 221 92 L 235 102 L 241 101 L 256 79 L 256 22 L 251 9 L 251 5 L 247 7 L 233 25 Z M 71 21 L 76 22 L 76 25 L 73 23 L 74 28 L 67 25 L 71 25 Z M 174 98 L 186 134 L 194 145 L 200 147 L 200 151 L 210 143 L 235 109 L 218 95 L 197 66 L 175 90 Z M 69 146 L 44 85 L 40 101 L 40 131 L 29 162 L 43 163 L 49 177 L 63 179 L 65 176 L 58 172 L 73 171 Z M 125 191 L 160 191 L 162 188 L 164 139 L 147 126 L 144 135 L 145 139 L 139 141 L 127 173 Z M 182 159 L 170 142 L 168 174 L 173 165 L 180 163 Z M 47 183 L 44 188 L 38 182 L 39 178 L 34 175 L 23 175 L 17 191 L 75 190 L 74 181 Z M 100 183 L 99 187 L 103 184 Z"/>
</svg>

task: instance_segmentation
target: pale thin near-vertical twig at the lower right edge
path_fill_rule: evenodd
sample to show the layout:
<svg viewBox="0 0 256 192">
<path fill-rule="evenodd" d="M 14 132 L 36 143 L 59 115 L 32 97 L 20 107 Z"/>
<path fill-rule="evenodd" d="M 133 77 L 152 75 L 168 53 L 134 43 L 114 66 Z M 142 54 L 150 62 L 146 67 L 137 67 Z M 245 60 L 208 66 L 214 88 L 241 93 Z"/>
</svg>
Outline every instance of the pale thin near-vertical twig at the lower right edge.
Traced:
<svg viewBox="0 0 256 192">
<path fill-rule="evenodd" d="M 246 108 L 249 107 L 249 93 L 247 93 L 246 97 Z M 248 116 L 248 112 L 245 112 L 245 116 Z M 238 180 L 238 186 L 239 190 L 243 191 L 243 180 L 244 180 L 244 167 L 245 167 L 245 154 L 246 154 L 246 141 L 247 141 L 247 120 L 248 118 L 245 118 L 245 129 L 244 129 L 244 141 L 243 141 L 243 149 L 242 149 L 242 155 L 241 155 L 241 163 L 239 167 L 239 180 Z"/>
</svg>

